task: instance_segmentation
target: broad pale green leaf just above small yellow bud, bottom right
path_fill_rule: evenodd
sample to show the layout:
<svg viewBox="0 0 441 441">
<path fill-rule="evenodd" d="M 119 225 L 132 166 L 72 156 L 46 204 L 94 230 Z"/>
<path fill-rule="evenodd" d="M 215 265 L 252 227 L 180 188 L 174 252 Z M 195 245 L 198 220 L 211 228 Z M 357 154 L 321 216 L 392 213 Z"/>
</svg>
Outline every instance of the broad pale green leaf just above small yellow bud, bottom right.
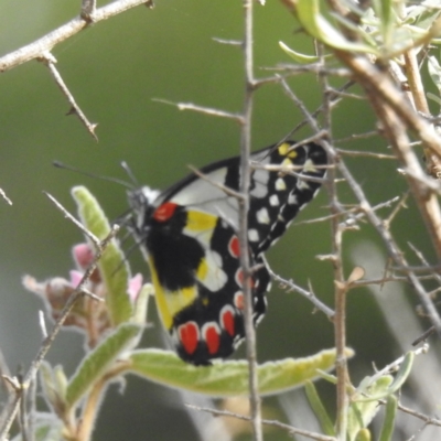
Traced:
<svg viewBox="0 0 441 441">
<path fill-rule="evenodd" d="M 378 378 L 374 384 L 364 389 L 369 396 L 380 396 L 388 390 L 394 378 L 390 375 Z M 362 381 L 363 383 L 363 381 Z M 356 400 L 356 397 L 353 397 Z M 362 429 L 367 428 L 379 409 L 377 400 L 361 400 L 351 402 L 347 412 L 347 434 L 348 440 L 357 440 L 357 434 Z"/>
</svg>

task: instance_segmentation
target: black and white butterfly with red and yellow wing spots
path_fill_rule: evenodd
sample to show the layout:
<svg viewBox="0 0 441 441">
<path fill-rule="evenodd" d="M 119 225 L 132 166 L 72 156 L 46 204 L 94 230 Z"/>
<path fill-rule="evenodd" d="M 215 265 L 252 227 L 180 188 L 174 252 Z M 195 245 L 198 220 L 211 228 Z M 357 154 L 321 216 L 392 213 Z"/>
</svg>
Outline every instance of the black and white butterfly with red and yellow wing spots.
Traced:
<svg viewBox="0 0 441 441">
<path fill-rule="evenodd" d="M 263 252 L 316 194 L 327 157 L 319 144 L 294 141 L 251 153 L 248 211 L 252 320 L 262 319 L 270 276 Z M 289 171 L 271 172 L 266 165 Z M 190 174 L 164 192 L 129 192 L 131 226 L 149 263 L 162 324 L 178 355 L 194 365 L 229 356 L 245 337 L 238 201 L 240 158 Z M 302 179 L 304 176 L 304 179 Z"/>
</svg>

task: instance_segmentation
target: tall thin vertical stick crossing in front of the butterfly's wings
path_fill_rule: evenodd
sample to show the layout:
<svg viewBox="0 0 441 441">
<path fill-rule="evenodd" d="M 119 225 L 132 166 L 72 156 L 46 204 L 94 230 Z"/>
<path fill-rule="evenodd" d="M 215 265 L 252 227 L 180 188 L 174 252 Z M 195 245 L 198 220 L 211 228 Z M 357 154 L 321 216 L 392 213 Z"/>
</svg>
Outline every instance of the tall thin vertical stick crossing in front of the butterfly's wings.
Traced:
<svg viewBox="0 0 441 441">
<path fill-rule="evenodd" d="M 250 269 L 248 251 L 248 211 L 249 211 L 249 185 L 251 166 L 249 157 L 251 151 L 251 112 L 252 93 L 255 90 L 254 79 L 254 54 L 252 54 L 252 2 L 243 0 L 244 7 L 244 63 L 245 63 L 245 97 L 243 110 L 243 125 L 240 129 L 240 193 L 243 197 L 239 204 L 239 243 L 240 243 L 240 266 L 244 272 L 243 290 L 245 297 L 245 335 L 246 351 L 249 369 L 249 404 L 251 410 L 251 423 L 255 441 L 262 441 L 261 408 L 258 391 L 257 377 L 257 351 L 256 331 L 252 321 L 252 295 L 250 282 L 252 272 Z"/>
</svg>

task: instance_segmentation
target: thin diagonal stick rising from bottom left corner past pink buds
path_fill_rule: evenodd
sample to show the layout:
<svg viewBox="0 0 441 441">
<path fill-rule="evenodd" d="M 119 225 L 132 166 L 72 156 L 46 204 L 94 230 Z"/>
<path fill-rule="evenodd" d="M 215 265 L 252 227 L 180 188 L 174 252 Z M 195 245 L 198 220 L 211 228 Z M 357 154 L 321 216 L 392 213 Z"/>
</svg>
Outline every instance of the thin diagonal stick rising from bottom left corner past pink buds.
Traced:
<svg viewBox="0 0 441 441">
<path fill-rule="evenodd" d="M 52 198 L 53 200 L 53 198 Z M 77 220 L 69 214 L 67 213 L 60 204 L 57 204 L 57 207 L 63 211 L 64 216 L 75 220 Z M 64 321 L 66 320 L 67 315 L 71 313 L 75 302 L 79 300 L 83 295 L 87 295 L 87 291 L 85 290 L 85 286 L 88 282 L 92 273 L 95 271 L 97 268 L 98 260 L 101 258 L 103 252 L 105 251 L 107 245 L 110 243 L 110 240 L 115 237 L 115 235 L 118 233 L 119 227 L 114 226 L 108 236 L 99 243 L 99 246 L 96 248 L 96 255 L 94 257 L 93 262 L 89 265 L 87 270 L 85 271 L 80 282 L 78 283 L 78 287 L 72 292 L 71 297 L 68 298 L 66 305 L 64 306 L 63 311 L 61 312 L 60 319 L 55 322 L 51 333 L 47 335 L 46 338 L 43 340 L 39 352 L 35 355 L 35 358 L 32 361 L 31 366 L 26 373 L 26 375 L 23 378 L 23 381 L 21 385 L 19 385 L 19 389 L 15 391 L 15 396 L 12 399 L 10 404 L 4 409 L 4 424 L 0 429 L 0 440 L 6 440 L 7 435 L 9 433 L 9 430 L 12 426 L 12 422 L 17 416 L 17 412 L 20 407 L 20 402 L 23 398 L 23 392 L 30 387 L 31 381 L 35 379 L 36 373 L 40 368 L 40 365 L 42 364 L 43 359 L 45 358 L 47 351 L 51 348 L 52 343 L 54 342 L 56 335 L 58 334 L 60 330 L 63 326 Z M 90 235 L 88 235 L 90 236 Z M 93 236 L 93 235 L 92 235 Z M 95 237 L 95 236 L 93 236 Z"/>
</svg>

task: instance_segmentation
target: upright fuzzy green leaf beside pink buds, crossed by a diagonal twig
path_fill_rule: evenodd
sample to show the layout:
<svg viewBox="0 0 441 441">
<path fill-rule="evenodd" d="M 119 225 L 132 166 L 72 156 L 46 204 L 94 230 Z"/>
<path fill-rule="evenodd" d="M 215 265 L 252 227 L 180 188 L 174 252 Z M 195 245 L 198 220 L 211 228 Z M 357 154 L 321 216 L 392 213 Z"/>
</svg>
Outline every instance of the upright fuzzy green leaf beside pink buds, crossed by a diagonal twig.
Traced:
<svg viewBox="0 0 441 441">
<path fill-rule="evenodd" d="M 110 225 L 95 196 L 84 186 L 72 189 L 83 225 L 99 239 L 110 233 Z M 125 256 L 114 239 L 106 248 L 98 268 L 106 286 L 105 301 L 112 326 L 130 320 L 132 306 L 127 293 L 130 272 Z"/>
</svg>

